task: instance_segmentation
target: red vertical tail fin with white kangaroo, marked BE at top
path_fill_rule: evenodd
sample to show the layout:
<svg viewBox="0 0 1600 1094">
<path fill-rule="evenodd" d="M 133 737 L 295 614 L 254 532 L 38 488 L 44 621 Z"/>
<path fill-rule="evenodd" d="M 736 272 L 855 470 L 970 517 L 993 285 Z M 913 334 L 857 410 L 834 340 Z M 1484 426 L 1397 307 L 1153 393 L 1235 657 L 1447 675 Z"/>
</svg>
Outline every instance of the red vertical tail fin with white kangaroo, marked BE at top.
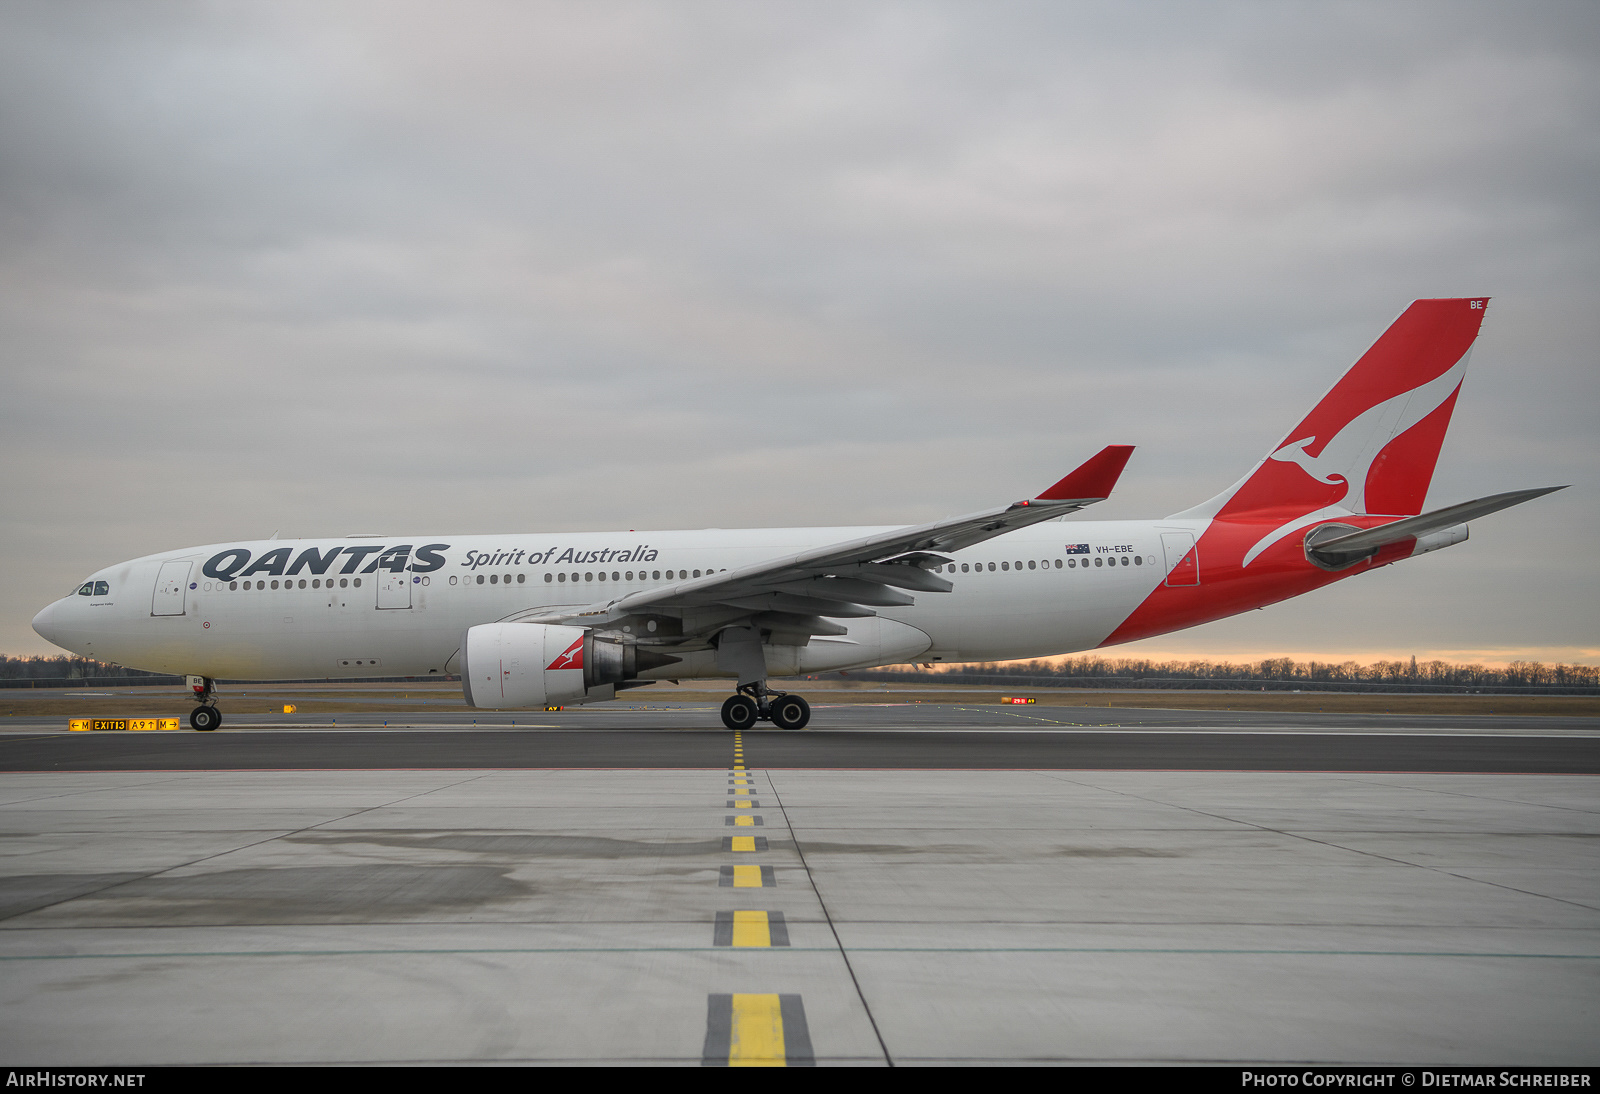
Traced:
<svg viewBox="0 0 1600 1094">
<path fill-rule="evenodd" d="M 1486 305 L 1411 304 L 1245 478 L 1178 515 L 1422 512 Z"/>
</svg>

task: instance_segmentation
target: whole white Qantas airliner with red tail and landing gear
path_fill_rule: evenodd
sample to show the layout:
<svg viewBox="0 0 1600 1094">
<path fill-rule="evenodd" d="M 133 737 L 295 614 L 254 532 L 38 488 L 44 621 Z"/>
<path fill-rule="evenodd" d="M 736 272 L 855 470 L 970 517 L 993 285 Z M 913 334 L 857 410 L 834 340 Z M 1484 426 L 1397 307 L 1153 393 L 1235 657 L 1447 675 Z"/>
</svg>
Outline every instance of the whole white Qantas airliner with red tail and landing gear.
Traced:
<svg viewBox="0 0 1600 1094">
<path fill-rule="evenodd" d="M 34 619 L 86 657 L 213 681 L 461 673 L 474 707 L 726 677 L 730 729 L 800 729 L 771 677 L 1110 646 L 1298 597 L 1467 537 L 1523 489 L 1422 513 L 1483 299 L 1416 301 L 1221 494 L 1165 520 L 1106 499 L 1110 446 L 1027 501 L 915 528 L 352 536 L 107 566 Z"/>
</svg>

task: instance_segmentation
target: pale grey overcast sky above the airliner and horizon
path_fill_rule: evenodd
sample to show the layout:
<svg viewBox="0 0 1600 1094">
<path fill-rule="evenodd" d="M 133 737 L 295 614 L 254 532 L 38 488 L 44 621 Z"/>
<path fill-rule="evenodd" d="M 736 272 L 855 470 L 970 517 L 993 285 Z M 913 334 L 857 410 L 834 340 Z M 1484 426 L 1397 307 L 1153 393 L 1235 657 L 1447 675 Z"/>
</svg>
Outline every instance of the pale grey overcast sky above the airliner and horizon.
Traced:
<svg viewBox="0 0 1600 1094">
<path fill-rule="evenodd" d="M 1448 552 L 1128 653 L 1600 662 L 1600 5 L 0 5 L 0 653 L 347 533 L 1160 517 L 1491 296 Z"/>
</svg>

